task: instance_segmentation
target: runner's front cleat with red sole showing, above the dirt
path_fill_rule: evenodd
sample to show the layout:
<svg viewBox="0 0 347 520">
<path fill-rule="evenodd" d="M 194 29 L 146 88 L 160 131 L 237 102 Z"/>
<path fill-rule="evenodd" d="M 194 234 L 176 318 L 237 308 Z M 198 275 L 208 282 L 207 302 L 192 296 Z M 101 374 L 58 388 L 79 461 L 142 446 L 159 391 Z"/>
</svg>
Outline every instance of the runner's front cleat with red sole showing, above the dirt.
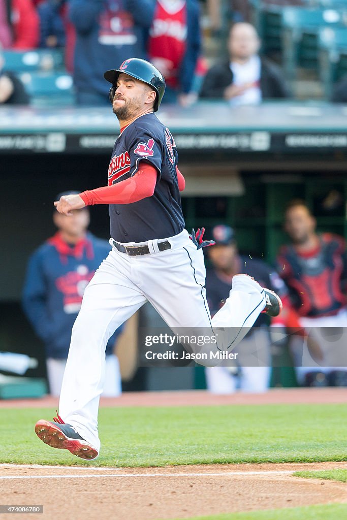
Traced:
<svg viewBox="0 0 347 520">
<path fill-rule="evenodd" d="M 66 424 L 58 415 L 55 422 L 40 419 L 35 424 L 35 433 L 48 446 L 69 450 L 70 453 L 81 459 L 92 460 L 98 452 L 70 424 Z M 58 424 L 57 424 L 58 423 Z"/>
</svg>

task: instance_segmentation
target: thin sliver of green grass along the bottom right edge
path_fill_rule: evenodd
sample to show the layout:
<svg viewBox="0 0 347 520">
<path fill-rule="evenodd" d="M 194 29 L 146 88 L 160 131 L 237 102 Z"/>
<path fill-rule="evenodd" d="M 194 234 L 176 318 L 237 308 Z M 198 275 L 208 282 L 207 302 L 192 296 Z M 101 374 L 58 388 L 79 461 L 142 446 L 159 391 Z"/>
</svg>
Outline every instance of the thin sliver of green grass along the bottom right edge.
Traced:
<svg viewBox="0 0 347 520">
<path fill-rule="evenodd" d="M 195 516 L 186 520 L 342 520 L 346 517 L 347 504 L 324 504 L 309 505 L 303 508 L 252 511 L 250 513 Z"/>
</svg>

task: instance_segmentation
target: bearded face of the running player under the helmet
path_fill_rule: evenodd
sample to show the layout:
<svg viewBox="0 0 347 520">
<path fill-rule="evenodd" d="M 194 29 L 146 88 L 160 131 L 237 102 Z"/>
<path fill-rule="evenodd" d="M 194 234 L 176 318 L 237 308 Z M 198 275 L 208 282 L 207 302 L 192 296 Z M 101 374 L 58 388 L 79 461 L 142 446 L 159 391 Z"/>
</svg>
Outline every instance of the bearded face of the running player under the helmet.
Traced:
<svg viewBox="0 0 347 520">
<path fill-rule="evenodd" d="M 121 73 L 112 102 L 113 113 L 123 121 L 136 117 L 144 108 L 150 108 L 155 100 L 153 94 L 155 91 L 143 81 Z"/>
</svg>

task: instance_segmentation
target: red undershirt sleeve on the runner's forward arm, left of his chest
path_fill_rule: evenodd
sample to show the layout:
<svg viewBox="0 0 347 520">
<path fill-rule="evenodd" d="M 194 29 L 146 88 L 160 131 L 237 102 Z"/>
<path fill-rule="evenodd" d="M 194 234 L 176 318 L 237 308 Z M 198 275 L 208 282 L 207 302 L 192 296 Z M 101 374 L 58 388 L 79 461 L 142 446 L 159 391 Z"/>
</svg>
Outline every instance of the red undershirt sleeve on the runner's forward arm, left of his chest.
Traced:
<svg viewBox="0 0 347 520">
<path fill-rule="evenodd" d="M 157 182 L 157 169 L 144 161 L 139 164 L 139 169 L 128 179 L 120 183 L 87 190 L 80 193 L 80 197 L 86 206 L 94 204 L 131 204 L 139 200 L 151 197 Z"/>
</svg>

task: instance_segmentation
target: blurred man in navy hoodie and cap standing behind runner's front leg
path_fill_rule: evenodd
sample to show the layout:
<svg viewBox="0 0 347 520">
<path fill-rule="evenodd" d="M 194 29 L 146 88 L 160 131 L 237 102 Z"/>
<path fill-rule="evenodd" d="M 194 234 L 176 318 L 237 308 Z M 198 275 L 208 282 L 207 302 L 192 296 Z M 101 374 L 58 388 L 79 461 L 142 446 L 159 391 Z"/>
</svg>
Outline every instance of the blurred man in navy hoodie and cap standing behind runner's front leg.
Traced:
<svg viewBox="0 0 347 520">
<path fill-rule="evenodd" d="M 62 195 L 79 193 L 68 191 Z M 36 334 L 43 340 L 50 393 L 59 395 L 69 352 L 73 323 L 84 289 L 110 252 L 110 244 L 87 232 L 89 211 L 84 208 L 65 216 L 53 214 L 58 232 L 30 258 L 23 288 L 23 308 Z M 118 329 L 106 347 L 104 396 L 121 393 L 119 363 L 113 354 Z"/>
</svg>

